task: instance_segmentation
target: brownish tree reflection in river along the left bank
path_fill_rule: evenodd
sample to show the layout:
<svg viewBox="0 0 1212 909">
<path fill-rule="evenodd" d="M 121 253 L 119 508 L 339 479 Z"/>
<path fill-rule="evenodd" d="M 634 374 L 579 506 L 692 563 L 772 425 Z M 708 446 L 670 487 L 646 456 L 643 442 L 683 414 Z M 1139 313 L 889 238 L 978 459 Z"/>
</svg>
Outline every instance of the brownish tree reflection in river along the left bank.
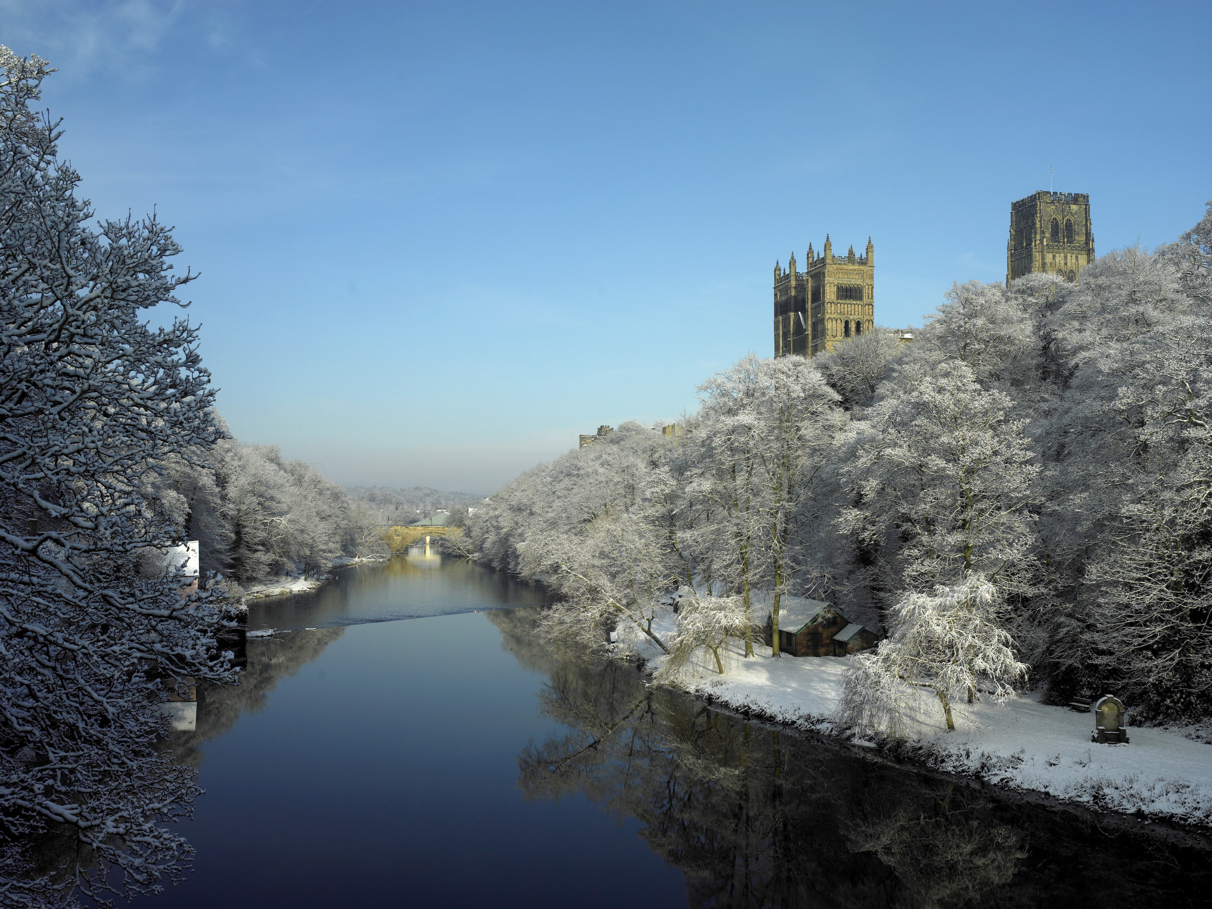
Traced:
<svg viewBox="0 0 1212 909">
<path fill-rule="evenodd" d="M 279 679 L 296 675 L 344 633 L 343 627 L 318 628 L 248 641 L 248 665 L 240 673 L 239 685 L 206 685 L 199 690 L 196 731 L 175 732 L 168 742 L 176 759 L 196 767 L 202 761 L 205 742 L 235 726 L 241 714 L 263 710 Z"/>
</svg>

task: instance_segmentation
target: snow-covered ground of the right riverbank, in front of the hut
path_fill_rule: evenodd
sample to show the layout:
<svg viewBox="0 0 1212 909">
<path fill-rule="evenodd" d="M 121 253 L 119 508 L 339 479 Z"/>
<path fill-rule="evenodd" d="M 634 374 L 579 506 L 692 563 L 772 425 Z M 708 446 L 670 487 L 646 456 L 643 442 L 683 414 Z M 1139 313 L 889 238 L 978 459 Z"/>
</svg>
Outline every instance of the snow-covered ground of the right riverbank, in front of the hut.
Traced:
<svg viewBox="0 0 1212 909">
<path fill-rule="evenodd" d="M 658 635 L 673 631 L 674 617 L 653 624 Z M 659 665 L 663 656 L 634 629 L 618 648 Z M 850 734 L 831 716 L 841 696 L 847 657 L 758 656 L 743 658 L 731 647 L 724 675 L 703 661 L 682 679 L 692 693 L 744 713 L 827 734 Z M 721 653 L 722 656 L 722 653 Z M 1131 705 L 1130 705 L 1131 708 Z M 917 698 L 907 718 L 907 741 L 852 739 L 856 745 L 894 748 L 927 766 L 978 777 L 1012 789 L 1046 793 L 1063 801 L 1103 811 L 1139 813 L 1189 824 L 1212 824 L 1212 745 L 1180 731 L 1132 727 L 1131 744 L 1094 744 L 1093 716 L 1039 703 L 1025 693 L 1004 704 L 953 704 L 955 732 L 932 692 Z"/>
</svg>

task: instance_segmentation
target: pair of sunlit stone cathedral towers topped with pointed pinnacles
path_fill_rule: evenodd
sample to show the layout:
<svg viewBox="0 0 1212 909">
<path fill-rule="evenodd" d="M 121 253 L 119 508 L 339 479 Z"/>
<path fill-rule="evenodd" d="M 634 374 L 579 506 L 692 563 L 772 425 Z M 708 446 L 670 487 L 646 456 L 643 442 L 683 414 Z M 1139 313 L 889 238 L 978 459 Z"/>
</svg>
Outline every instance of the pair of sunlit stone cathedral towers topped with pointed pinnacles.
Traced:
<svg viewBox="0 0 1212 909">
<path fill-rule="evenodd" d="M 812 250 L 804 270 L 795 268 L 795 253 L 787 271 L 774 263 L 774 356 L 814 356 L 831 350 L 846 338 L 875 325 L 875 247 L 858 256 L 851 246 L 845 256 L 833 255 L 825 234 L 821 252 Z"/>
</svg>

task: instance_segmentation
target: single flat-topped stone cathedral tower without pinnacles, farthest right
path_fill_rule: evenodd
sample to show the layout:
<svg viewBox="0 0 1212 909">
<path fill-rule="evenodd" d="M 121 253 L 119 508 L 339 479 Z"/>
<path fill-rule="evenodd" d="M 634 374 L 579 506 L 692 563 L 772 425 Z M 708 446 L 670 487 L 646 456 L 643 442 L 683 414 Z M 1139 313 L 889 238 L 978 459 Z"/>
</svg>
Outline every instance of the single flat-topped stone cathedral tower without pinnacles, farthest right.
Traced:
<svg viewBox="0 0 1212 909">
<path fill-rule="evenodd" d="M 1006 286 L 1033 271 L 1076 281 L 1094 261 L 1094 233 L 1090 227 L 1090 196 L 1085 193 L 1040 190 L 1010 206 L 1006 241 Z"/>
</svg>

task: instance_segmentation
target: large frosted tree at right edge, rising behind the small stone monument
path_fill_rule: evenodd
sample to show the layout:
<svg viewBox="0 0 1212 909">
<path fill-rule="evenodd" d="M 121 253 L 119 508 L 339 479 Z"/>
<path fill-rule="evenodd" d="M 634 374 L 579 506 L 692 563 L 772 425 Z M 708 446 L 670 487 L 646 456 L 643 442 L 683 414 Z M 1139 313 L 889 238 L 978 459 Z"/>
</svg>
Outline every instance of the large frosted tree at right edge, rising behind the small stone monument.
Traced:
<svg viewBox="0 0 1212 909">
<path fill-rule="evenodd" d="M 1115 686 L 1142 715 L 1202 715 L 1212 709 L 1212 343 L 1204 320 L 1180 316 L 1098 370 L 1115 396 L 1092 416 L 1114 436 L 1103 451 L 1119 452 L 1071 471 L 1082 470 L 1086 501 L 1103 514 L 1077 602 L 1054 629 L 1053 668 Z"/>
</svg>

